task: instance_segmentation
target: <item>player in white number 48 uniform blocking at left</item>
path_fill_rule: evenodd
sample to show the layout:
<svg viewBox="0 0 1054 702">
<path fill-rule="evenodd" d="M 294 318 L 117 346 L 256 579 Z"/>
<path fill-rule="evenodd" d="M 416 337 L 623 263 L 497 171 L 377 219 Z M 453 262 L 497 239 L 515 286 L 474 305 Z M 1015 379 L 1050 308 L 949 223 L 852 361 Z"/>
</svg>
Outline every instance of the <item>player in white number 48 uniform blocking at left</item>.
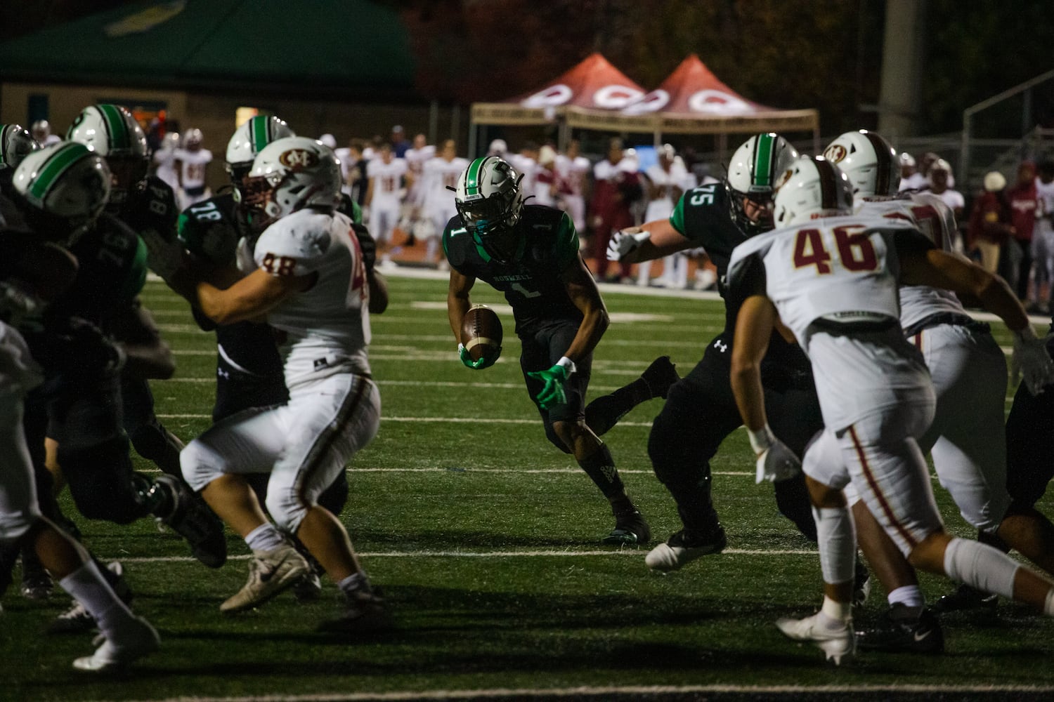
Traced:
<svg viewBox="0 0 1054 702">
<path fill-rule="evenodd" d="M 373 438 L 380 397 L 370 376 L 369 287 L 351 220 L 337 213 L 340 166 L 304 137 L 265 146 L 245 179 L 254 230 L 239 249 L 255 267 L 213 285 L 186 263 L 178 244 L 155 256 L 165 279 L 217 324 L 267 315 L 280 343 L 285 405 L 228 417 L 191 441 L 183 476 L 253 550 L 246 585 L 220 605 L 240 611 L 292 586 L 310 566 L 284 534 L 295 535 L 345 596 L 345 611 L 319 629 L 352 634 L 386 625 L 340 521 L 319 494 Z M 219 282 L 219 281 L 217 281 Z M 270 522 L 243 475 L 269 472 Z"/>
</svg>

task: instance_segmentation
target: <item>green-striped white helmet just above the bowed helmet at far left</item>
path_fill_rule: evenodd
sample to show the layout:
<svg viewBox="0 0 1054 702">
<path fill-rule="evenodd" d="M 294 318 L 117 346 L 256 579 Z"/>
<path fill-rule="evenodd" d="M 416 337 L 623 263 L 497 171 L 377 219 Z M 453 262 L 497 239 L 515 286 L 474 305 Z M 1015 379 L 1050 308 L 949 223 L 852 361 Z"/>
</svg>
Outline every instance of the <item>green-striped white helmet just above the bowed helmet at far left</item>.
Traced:
<svg viewBox="0 0 1054 702">
<path fill-rule="evenodd" d="M 114 181 L 109 203 L 113 207 L 124 204 L 129 189 L 147 177 L 150 168 L 147 135 L 126 107 L 111 104 L 84 107 L 70 125 L 66 139 L 78 141 L 106 159 Z"/>
</svg>

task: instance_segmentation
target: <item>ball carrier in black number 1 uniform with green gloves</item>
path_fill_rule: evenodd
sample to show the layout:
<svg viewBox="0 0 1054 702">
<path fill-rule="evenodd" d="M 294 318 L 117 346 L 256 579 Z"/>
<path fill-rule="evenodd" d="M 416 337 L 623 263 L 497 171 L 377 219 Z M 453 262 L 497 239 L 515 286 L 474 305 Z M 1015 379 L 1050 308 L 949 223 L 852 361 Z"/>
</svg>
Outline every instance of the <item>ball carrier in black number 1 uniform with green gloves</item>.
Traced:
<svg viewBox="0 0 1054 702">
<path fill-rule="evenodd" d="M 609 545 L 640 545 L 650 539 L 647 522 L 626 495 L 611 453 L 599 437 L 632 407 L 678 380 L 668 356 L 656 359 L 625 387 L 586 406 L 592 354 L 608 325 L 607 309 L 579 255 L 579 237 L 560 209 L 525 205 L 522 176 L 496 156 L 475 159 L 457 179 L 457 216 L 443 234 L 450 263 L 447 314 L 461 341 L 476 279 L 505 294 L 512 306 L 522 350 L 520 367 L 538 406 L 545 435 L 574 456 L 611 505 Z M 485 368 L 458 344 L 462 363 Z"/>
</svg>

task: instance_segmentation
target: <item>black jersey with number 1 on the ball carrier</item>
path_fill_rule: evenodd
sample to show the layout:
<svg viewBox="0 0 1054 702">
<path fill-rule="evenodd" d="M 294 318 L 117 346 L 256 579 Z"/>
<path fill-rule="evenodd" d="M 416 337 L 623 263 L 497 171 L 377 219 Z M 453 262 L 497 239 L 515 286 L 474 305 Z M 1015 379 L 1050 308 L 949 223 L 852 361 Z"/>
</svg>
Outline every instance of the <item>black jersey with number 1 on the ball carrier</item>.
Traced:
<svg viewBox="0 0 1054 702">
<path fill-rule="evenodd" d="M 521 236 L 515 260 L 499 263 L 475 243 L 461 216 L 454 217 L 443 233 L 450 267 L 504 293 L 519 335 L 530 334 L 554 319 L 581 322 L 582 312 L 561 278 L 579 260 L 579 235 L 570 218 L 554 207 L 525 205 L 516 226 Z"/>
</svg>

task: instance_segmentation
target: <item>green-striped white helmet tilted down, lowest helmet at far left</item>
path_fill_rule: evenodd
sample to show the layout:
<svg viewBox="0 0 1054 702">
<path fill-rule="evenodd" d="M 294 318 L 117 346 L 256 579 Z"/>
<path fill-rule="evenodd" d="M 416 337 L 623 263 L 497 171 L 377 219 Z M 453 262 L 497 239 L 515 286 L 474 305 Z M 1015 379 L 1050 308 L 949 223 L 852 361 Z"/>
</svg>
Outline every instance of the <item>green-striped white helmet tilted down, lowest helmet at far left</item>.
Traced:
<svg viewBox="0 0 1054 702">
<path fill-rule="evenodd" d="M 63 141 L 33 152 L 15 168 L 14 186 L 31 205 L 30 225 L 52 240 L 74 241 L 110 196 L 106 161 L 84 144 Z"/>
</svg>

